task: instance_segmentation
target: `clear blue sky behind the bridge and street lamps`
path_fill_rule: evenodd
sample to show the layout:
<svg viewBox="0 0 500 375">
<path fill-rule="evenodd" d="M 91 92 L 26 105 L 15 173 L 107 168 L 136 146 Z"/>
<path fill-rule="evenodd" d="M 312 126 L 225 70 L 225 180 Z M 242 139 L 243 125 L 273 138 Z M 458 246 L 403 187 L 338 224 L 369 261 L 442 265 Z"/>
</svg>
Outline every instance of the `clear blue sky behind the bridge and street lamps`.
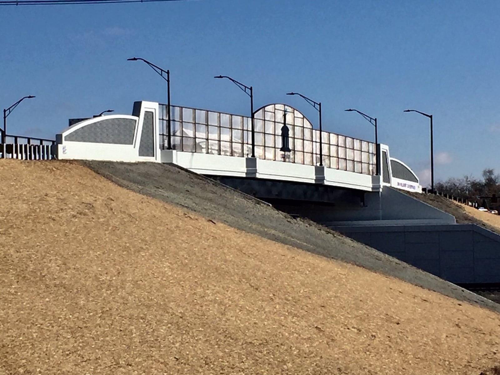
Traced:
<svg viewBox="0 0 500 375">
<path fill-rule="evenodd" d="M 53 137 L 69 117 L 166 102 L 139 56 L 170 69 L 172 103 L 248 114 L 224 74 L 253 85 L 255 107 L 285 102 L 323 128 L 379 141 L 425 182 L 434 116 L 435 179 L 500 171 L 500 2 L 191 0 L 1 6 L 0 106 L 24 95 L 7 132 Z M 316 122 L 317 124 L 317 122 Z"/>
</svg>

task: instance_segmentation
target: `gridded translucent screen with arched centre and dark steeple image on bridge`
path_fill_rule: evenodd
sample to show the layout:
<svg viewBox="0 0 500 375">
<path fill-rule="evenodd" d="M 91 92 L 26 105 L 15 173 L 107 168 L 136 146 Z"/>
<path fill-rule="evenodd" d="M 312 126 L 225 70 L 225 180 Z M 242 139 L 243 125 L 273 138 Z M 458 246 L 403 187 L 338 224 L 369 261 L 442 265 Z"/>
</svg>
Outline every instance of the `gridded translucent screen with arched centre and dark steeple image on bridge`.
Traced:
<svg viewBox="0 0 500 375">
<path fill-rule="evenodd" d="M 167 111 L 160 104 L 160 131 L 166 144 Z M 229 156 L 251 156 L 251 118 L 203 109 L 171 106 L 173 149 Z M 295 108 L 269 104 L 254 113 L 255 157 L 319 164 L 319 130 Z M 375 173 L 375 146 L 366 140 L 321 132 L 323 165 L 357 173 Z"/>
</svg>

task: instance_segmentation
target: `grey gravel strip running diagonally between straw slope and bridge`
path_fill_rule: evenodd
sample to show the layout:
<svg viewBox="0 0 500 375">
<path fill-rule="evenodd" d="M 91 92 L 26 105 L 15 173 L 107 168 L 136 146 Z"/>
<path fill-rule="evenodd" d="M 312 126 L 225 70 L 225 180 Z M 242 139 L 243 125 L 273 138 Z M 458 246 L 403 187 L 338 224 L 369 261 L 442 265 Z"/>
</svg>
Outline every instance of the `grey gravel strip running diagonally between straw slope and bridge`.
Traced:
<svg viewBox="0 0 500 375">
<path fill-rule="evenodd" d="M 500 312 L 500 305 L 398 259 L 175 165 L 80 161 L 119 186 L 173 203 L 206 218 L 315 254 L 391 275 Z"/>
</svg>

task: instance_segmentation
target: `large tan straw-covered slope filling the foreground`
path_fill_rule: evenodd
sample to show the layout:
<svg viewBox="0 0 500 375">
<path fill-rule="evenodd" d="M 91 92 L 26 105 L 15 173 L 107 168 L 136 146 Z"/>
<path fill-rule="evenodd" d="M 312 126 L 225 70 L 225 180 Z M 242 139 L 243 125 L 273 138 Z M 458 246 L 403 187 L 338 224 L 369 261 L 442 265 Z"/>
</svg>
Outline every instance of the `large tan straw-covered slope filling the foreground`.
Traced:
<svg viewBox="0 0 500 375">
<path fill-rule="evenodd" d="M 0 180 L 2 375 L 479 375 L 500 364 L 493 311 L 76 163 L 0 160 Z"/>
</svg>

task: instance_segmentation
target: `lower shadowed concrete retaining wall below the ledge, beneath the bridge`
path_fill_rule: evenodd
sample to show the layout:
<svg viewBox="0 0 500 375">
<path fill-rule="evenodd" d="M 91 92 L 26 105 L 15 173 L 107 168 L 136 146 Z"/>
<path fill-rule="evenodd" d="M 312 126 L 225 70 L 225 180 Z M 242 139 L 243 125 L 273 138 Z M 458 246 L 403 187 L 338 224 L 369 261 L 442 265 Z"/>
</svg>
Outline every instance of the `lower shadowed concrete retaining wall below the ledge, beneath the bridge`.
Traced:
<svg viewBox="0 0 500 375">
<path fill-rule="evenodd" d="M 331 228 L 450 282 L 500 282 L 500 235 L 475 224 Z"/>
</svg>

